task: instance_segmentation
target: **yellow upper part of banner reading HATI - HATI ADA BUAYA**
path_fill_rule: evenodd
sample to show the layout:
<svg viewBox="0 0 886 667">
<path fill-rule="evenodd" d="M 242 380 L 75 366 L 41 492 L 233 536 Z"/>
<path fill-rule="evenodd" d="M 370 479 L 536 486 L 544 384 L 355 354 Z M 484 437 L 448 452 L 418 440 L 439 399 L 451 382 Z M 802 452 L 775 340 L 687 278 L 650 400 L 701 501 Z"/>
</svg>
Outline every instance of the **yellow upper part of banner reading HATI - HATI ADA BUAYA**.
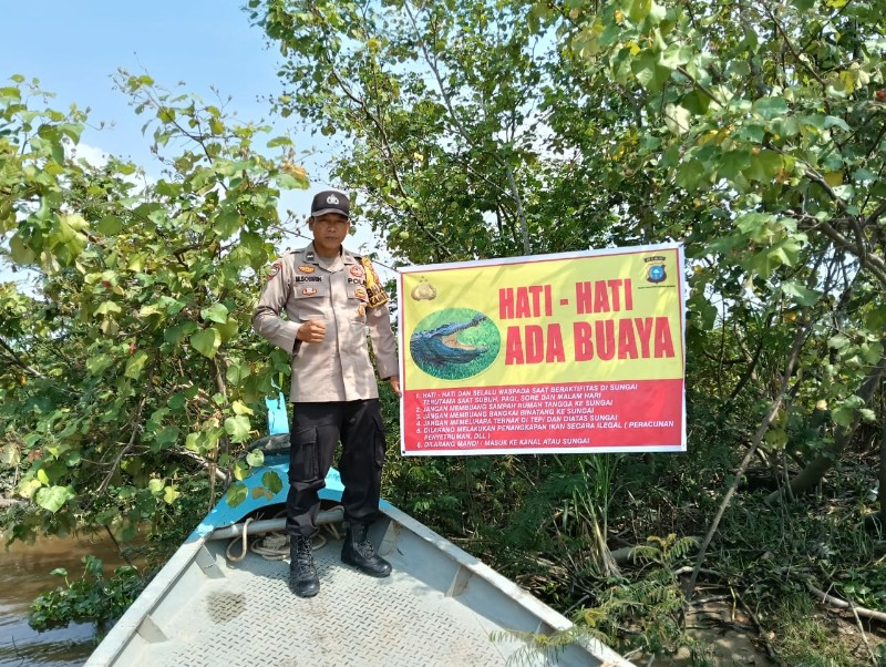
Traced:
<svg viewBox="0 0 886 667">
<path fill-rule="evenodd" d="M 408 267 L 404 390 L 683 376 L 681 246 Z"/>
</svg>

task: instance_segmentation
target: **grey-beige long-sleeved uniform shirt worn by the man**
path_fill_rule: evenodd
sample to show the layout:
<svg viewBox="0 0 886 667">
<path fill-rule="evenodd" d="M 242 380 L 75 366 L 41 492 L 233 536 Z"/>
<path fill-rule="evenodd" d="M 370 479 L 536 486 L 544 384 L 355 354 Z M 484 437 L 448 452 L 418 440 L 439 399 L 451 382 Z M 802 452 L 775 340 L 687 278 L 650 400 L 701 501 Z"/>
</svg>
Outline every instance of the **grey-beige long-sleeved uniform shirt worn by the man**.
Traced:
<svg viewBox="0 0 886 667">
<path fill-rule="evenodd" d="M 379 397 L 369 359 L 367 328 L 379 376 L 399 373 L 396 341 L 388 305 L 369 308 L 365 269 L 342 249 L 341 263 L 323 268 L 313 244 L 288 250 L 271 265 L 253 315 L 253 328 L 292 355 L 292 402 L 354 401 Z M 280 312 L 286 312 L 286 319 Z M 308 320 L 323 320 L 322 342 L 296 339 Z"/>
</svg>

